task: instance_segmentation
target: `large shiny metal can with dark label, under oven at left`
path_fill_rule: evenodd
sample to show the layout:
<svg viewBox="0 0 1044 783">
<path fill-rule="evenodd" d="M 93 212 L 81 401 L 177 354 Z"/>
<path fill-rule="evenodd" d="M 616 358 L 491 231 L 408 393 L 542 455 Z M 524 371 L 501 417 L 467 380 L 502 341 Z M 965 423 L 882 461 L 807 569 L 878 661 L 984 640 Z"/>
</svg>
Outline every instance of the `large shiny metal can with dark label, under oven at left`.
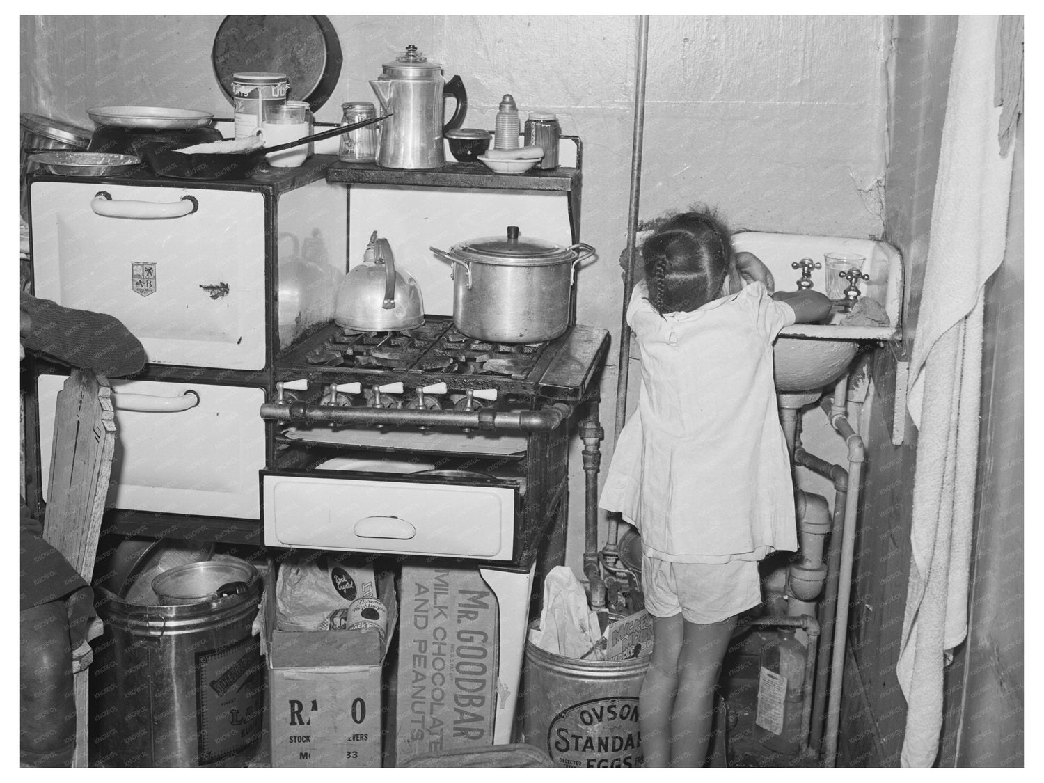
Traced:
<svg viewBox="0 0 1044 783">
<path fill-rule="evenodd" d="M 220 564 L 218 564 L 220 565 Z M 176 606 L 136 606 L 98 589 L 112 634 L 115 687 L 99 727 L 108 766 L 243 766 L 264 716 L 264 666 L 251 626 L 260 577 L 242 592 Z"/>
</svg>

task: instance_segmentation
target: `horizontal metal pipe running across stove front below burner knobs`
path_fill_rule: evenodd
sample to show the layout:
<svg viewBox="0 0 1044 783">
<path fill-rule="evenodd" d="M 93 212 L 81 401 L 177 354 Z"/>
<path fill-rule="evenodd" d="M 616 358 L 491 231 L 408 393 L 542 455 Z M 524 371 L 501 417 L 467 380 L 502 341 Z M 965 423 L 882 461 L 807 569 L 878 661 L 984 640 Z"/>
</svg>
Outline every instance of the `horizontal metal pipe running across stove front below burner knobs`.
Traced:
<svg viewBox="0 0 1044 783">
<path fill-rule="evenodd" d="M 295 424 L 384 424 L 470 429 L 507 429 L 526 432 L 557 429 L 572 413 L 572 406 L 554 403 L 540 410 L 425 410 L 423 408 L 349 408 L 311 403 L 266 402 L 261 418 Z"/>
</svg>

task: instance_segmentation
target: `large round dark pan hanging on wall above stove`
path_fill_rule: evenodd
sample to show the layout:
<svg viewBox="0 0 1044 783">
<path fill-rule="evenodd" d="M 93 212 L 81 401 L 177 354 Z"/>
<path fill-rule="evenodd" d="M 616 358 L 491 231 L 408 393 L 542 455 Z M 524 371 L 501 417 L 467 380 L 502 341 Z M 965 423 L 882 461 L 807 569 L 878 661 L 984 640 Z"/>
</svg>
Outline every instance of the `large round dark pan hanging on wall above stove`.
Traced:
<svg viewBox="0 0 1044 783">
<path fill-rule="evenodd" d="M 312 112 L 333 94 L 343 64 L 340 41 L 327 17 L 226 17 L 211 61 L 221 91 L 233 102 L 232 77 L 244 71 L 285 73 L 290 100 Z"/>
</svg>

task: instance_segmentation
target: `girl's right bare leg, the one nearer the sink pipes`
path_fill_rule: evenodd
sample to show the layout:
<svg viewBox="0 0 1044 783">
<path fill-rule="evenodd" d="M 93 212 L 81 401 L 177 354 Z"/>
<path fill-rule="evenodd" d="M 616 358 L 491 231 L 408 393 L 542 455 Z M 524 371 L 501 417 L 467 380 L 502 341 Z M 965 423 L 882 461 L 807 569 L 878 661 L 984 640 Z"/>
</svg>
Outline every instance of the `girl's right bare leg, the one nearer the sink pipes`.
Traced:
<svg viewBox="0 0 1044 783">
<path fill-rule="evenodd" d="M 678 657 L 678 695 L 670 717 L 671 766 L 703 766 L 707 758 L 714 717 L 714 687 L 735 626 L 735 617 L 706 625 L 684 623 Z M 659 642 L 656 637 L 654 645 Z M 655 649 L 654 646 L 654 656 Z M 644 727 L 642 732 L 644 742 Z"/>
</svg>

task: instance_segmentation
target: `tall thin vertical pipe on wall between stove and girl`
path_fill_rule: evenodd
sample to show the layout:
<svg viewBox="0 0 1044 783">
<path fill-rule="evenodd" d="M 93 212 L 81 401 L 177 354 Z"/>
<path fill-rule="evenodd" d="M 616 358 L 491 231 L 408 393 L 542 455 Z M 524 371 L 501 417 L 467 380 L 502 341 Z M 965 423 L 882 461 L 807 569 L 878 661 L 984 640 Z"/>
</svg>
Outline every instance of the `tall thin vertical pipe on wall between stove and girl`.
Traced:
<svg viewBox="0 0 1044 783">
<path fill-rule="evenodd" d="M 627 417 L 627 377 L 631 372 L 631 327 L 627 326 L 627 300 L 635 282 L 635 243 L 638 237 L 638 203 L 642 181 L 642 138 L 645 133 L 645 70 L 648 61 L 649 18 L 638 17 L 638 47 L 635 57 L 635 124 L 631 142 L 631 191 L 627 207 L 627 265 L 623 269 L 623 309 L 620 312 L 620 352 L 616 367 L 616 418 L 613 420 L 613 444 Z M 609 518 L 607 548 L 616 550 L 616 518 Z"/>
</svg>

